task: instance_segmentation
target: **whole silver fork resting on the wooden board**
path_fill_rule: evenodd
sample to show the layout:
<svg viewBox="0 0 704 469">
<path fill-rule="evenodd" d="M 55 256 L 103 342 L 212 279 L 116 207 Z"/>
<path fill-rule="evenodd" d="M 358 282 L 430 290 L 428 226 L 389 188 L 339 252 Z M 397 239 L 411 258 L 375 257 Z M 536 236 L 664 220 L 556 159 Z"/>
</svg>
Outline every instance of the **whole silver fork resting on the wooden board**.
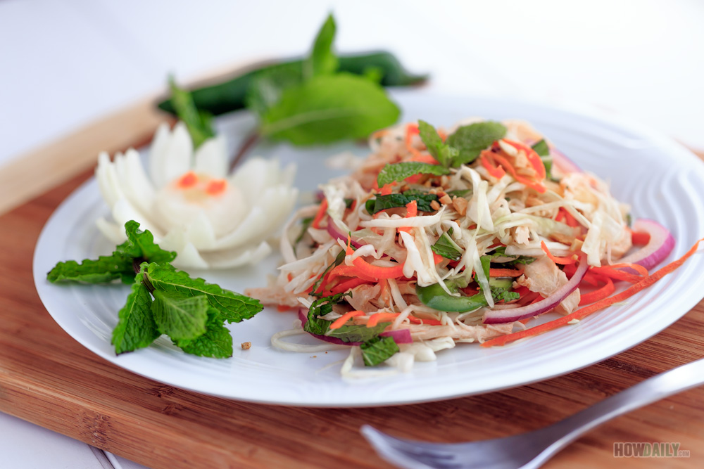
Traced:
<svg viewBox="0 0 704 469">
<path fill-rule="evenodd" d="M 417 442 L 391 437 L 370 425 L 363 425 L 360 431 L 382 458 L 401 468 L 539 468 L 567 444 L 597 425 L 702 384 L 704 359 L 699 359 L 648 378 L 548 427 L 479 442 Z"/>
</svg>

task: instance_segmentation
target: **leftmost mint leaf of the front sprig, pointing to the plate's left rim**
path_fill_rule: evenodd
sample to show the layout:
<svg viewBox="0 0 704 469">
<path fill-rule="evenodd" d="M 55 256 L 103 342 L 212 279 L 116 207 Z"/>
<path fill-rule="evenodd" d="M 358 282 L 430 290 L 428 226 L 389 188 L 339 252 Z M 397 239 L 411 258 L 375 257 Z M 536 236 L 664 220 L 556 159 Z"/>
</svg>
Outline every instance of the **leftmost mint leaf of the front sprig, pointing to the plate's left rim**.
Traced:
<svg viewBox="0 0 704 469">
<path fill-rule="evenodd" d="M 75 261 L 59 262 L 49 271 L 46 278 L 51 283 L 108 283 L 123 276 L 131 278 L 128 283 L 132 283 L 132 259 L 113 253 L 111 256 L 100 256 L 97 260 L 84 259 L 80 264 Z"/>
</svg>

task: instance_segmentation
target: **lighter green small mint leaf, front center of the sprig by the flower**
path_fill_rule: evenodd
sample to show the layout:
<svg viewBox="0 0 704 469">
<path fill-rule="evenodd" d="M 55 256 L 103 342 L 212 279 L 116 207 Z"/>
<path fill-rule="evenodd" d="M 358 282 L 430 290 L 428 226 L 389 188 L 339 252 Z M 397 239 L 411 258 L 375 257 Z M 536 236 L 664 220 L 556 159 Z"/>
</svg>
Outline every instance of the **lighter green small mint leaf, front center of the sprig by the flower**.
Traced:
<svg viewBox="0 0 704 469">
<path fill-rule="evenodd" d="M 210 304 L 205 295 L 187 296 L 161 290 L 154 290 L 153 295 L 151 312 L 160 333 L 179 340 L 195 339 L 206 332 Z"/>
</svg>

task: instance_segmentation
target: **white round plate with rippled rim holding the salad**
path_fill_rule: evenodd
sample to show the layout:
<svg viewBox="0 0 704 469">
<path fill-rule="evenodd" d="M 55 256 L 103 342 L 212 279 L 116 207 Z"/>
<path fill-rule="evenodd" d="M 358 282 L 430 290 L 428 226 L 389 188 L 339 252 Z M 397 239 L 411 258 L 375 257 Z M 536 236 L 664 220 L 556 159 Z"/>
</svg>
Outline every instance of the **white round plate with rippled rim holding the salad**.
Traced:
<svg viewBox="0 0 704 469">
<path fill-rule="evenodd" d="M 612 182 L 617 198 L 630 203 L 634 217 L 648 217 L 667 226 L 677 240 L 668 260 L 681 256 L 704 235 L 704 165 L 677 143 L 631 125 L 584 113 L 530 103 L 486 98 L 458 98 L 402 92 L 395 94 L 404 120 L 418 118 L 450 125 L 463 117 L 529 120 L 584 169 Z M 220 131 L 241 136 L 251 119 L 235 115 L 220 120 Z M 235 137 L 233 137 L 234 139 Z M 339 174 L 321 164 L 332 146 L 294 150 L 265 146 L 258 153 L 276 153 L 298 161 L 296 184 L 310 191 Z M 703 296 L 704 255 L 694 255 L 674 274 L 632 297 L 627 304 L 593 314 L 567 326 L 507 347 L 485 349 L 458 345 L 439 352 L 432 363 L 417 364 L 411 373 L 360 381 L 344 380 L 339 362 L 347 352 L 317 354 L 281 352 L 270 346 L 278 330 L 291 328 L 294 314 L 265 309 L 255 318 L 231 326 L 232 359 L 203 359 L 180 352 L 166 338 L 151 347 L 115 356 L 110 345 L 117 311 L 129 290 L 124 285 L 51 285 L 46 272 L 56 262 L 107 254 L 112 246 L 94 226 L 108 213 L 94 180 L 78 188 L 53 214 L 34 252 L 34 281 L 51 316 L 75 340 L 104 359 L 177 387 L 232 399 L 295 406 L 380 406 L 447 399 L 532 383 L 588 366 L 633 347 L 677 321 Z M 251 269 L 196 272 L 208 281 L 241 292 L 265 284 L 277 259 Z M 241 342 L 252 342 L 249 350 Z"/>
</svg>

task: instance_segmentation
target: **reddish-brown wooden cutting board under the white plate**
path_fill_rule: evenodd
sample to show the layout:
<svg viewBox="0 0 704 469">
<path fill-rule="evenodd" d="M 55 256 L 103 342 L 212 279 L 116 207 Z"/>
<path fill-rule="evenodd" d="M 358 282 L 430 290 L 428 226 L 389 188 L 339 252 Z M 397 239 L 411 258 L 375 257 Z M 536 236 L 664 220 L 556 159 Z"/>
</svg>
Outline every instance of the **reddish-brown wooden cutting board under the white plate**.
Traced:
<svg viewBox="0 0 704 469">
<path fill-rule="evenodd" d="M 704 356 L 704 302 L 700 302 L 650 340 L 581 371 L 429 404 L 293 408 L 230 401 L 163 385 L 82 347 L 51 319 L 34 290 L 32 253 L 39 232 L 61 200 L 90 174 L 83 171 L 0 217 L 0 411 L 149 467 L 389 467 L 360 436 L 360 425 L 436 442 L 515 435 L 554 423 L 649 376 Z M 691 456 L 614 458 L 615 442 L 677 442 Z M 704 387 L 602 425 L 546 467 L 704 467 L 702 442 Z"/>
</svg>

